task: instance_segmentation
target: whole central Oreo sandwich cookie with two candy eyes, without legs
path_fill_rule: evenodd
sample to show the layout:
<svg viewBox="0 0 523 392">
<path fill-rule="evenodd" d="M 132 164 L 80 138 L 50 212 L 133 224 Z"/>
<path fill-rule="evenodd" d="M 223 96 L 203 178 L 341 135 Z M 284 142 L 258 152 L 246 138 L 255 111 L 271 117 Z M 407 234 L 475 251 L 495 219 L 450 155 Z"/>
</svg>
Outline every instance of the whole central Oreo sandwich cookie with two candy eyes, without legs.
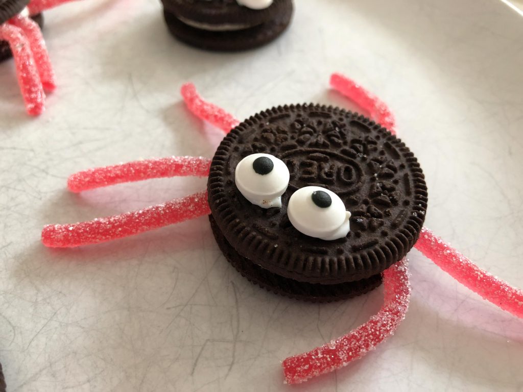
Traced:
<svg viewBox="0 0 523 392">
<path fill-rule="evenodd" d="M 319 105 L 272 108 L 238 125 L 214 155 L 208 194 L 214 235 L 240 272 L 316 301 L 376 287 L 416 242 L 428 200 L 400 139 Z"/>
</svg>

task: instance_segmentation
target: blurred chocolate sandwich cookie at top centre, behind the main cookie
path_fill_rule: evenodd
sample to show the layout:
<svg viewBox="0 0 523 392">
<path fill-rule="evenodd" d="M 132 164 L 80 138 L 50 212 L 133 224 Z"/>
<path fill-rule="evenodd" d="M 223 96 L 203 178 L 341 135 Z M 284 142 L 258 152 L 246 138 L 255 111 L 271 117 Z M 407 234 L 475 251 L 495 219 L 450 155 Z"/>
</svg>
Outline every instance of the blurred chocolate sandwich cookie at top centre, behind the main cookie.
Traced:
<svg viewBox="0 0 523 392">
<path fill-rule="evenodd" d="M 174 37 L 198 48 L 241 51 L 264 45 L 289 26 L 291 0 L 162 0 Z"/>
</svg>

